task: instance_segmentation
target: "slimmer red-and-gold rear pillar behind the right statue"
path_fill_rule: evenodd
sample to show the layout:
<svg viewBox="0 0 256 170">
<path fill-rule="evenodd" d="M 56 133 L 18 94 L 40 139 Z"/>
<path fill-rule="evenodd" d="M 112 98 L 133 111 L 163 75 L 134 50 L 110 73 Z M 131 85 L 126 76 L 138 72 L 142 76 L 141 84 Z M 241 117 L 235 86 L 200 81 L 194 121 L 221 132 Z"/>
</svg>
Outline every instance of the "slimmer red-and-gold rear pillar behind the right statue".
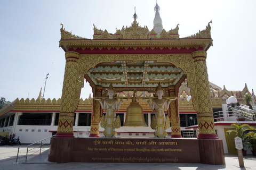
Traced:
<svg viewBox="0 0 256 170">
<path fill-rule="evenodd" d="M 168 90 L 169 90 L 170 97 L 176 97 L 174 86 L 168 87 Z M 172 124 L 171 138 L 182 138 L 181 130 L 180 130 L 180 115 L 179 115 L 179 111 L 178 111 L 178 100 L 171 101 L 169 112 L 170 112 L 170 116 L 171 116 L 170 121 Z"/>
</svg>

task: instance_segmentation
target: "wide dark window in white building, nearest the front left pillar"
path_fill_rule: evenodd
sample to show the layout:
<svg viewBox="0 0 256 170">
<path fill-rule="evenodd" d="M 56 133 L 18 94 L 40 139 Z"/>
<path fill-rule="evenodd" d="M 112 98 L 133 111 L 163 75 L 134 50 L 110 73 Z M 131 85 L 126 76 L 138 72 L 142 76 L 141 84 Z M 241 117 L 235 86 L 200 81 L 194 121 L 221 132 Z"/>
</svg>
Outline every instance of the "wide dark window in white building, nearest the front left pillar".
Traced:
<svg viewBox="0 0 256 170">
<path fill-rule="evenodd" d="M 18 125 L 51 125 L 52 113 L 23 113 Z"/>
</svg>

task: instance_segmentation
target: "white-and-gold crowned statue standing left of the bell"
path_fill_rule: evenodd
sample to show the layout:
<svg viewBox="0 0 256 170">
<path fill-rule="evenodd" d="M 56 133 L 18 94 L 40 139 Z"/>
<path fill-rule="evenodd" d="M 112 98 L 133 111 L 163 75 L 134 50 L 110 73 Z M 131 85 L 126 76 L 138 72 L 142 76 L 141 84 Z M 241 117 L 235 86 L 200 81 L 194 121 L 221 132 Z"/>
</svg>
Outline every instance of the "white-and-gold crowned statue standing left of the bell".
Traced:
<svg viewBox="0 0 256 170">
<path fill-rule="evenodd" d="M 101 128 L 104 128 L 104 136 L 103 137 L 109 137 L 109 138 L 115 138 L 116 131 L 115 129 L 118 129 L 121 127 L 121 120 L 120 117 L 116 117 L 116 111 L 120 108 L 122 104 L 122 100 L 118 104 L 118 100 L 114 98 L 115 92 L 113 89 L 112 84 L 110 83 L 109 89 L 108 89 L 108 98 L 105 99 L 102 103 L 101 99 L 96 99 L 100 100 L 100 105 L 103 108 L 104 111 L 106 111 L 106 116 L 101 117 L 101 122 L 100 126 Z"/>
</svg>

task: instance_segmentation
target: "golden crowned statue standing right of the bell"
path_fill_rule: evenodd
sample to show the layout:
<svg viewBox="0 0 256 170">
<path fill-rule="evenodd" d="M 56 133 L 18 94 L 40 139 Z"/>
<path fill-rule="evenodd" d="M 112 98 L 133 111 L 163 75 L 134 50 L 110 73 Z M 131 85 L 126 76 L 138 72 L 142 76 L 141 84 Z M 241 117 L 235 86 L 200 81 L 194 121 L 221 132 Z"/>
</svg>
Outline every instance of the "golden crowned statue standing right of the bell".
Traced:
<svg viewBox="0 0 256 170">
<path fill-rule="evenodd" d="M 155 138 L 167 138 L 166 129 L 170 128 L 169 117 L 164 115 L 164 111 L 167 111 L 170 105 L 170 100 L 163 99 L 163 89 L 160 84 L 156 87 L 157 99 L 153 99 L 152 104 L 148 100 L 150 108 L 155 111 L 155 115 L 151 118 L 151 129 L 154 129 Z"/>
</svg>

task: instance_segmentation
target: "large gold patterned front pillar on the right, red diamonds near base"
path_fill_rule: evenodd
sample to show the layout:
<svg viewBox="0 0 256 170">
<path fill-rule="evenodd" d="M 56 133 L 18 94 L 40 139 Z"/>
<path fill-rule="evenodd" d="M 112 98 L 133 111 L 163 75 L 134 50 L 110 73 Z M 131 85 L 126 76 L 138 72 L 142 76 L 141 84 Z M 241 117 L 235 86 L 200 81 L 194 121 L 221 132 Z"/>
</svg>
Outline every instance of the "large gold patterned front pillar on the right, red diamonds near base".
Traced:
<svg viewBox="0 0 256 170">
<path fill-rule="evenodd" d="M 195 102 L 193 105 L 197 111 L 198 139 L 218 139 L 214 129 L 212 102 L 206 67 L 207 53 L 205 51 L 196 51 L 192 53 L 192 56 L 194 60 L 195 93 L 191 95 L 193 95 L 192 99 Z"/>
</svg>

